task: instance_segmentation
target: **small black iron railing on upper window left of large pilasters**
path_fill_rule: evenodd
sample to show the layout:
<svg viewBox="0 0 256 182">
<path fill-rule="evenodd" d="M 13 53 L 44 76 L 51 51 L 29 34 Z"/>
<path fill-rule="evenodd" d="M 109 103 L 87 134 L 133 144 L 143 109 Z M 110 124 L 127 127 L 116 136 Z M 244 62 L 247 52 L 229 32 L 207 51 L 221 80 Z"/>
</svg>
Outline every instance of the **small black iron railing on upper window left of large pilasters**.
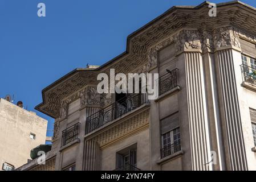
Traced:
<svg viewBox="0 0 256 182">
<path fill-rule="evenodd" d="M 169 90 L 175 88 L 177 85 L 177 75 L 178 69 L 173 69 L 173 71 L 166 70 L 168 73 L 159 77 L 159 95 L 168 92 Z"/>
</svg>

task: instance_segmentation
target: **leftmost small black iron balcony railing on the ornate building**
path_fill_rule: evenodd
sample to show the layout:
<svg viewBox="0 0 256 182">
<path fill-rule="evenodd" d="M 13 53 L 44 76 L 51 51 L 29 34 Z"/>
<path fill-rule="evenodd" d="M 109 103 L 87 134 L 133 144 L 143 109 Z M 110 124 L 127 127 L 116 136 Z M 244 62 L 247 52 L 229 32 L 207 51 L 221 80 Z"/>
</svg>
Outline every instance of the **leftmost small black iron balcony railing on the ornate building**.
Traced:
<svg viewBox="0 0 256 182">
<path fill-rule="evenodd" d="M 62 131 L 62 146 L 74 141 L 78 138 L 80 123 L 76 123 L 73 126 L 68 127 L 66 130 Z"/>
</svg>

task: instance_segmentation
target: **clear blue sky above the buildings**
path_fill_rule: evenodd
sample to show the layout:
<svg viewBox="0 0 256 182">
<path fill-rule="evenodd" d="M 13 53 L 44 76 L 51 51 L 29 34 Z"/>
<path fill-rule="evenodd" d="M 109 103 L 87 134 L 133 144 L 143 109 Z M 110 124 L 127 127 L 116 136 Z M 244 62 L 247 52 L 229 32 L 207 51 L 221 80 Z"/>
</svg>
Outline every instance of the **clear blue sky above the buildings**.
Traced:
<svg viewBox="0 0 256 182">
<path fill-rule="evenodd" d="M 37 16 L 39 2 L 46 5 L 45 18 Z M 202 2 L 0 0 L 0 97 L 14 94 L 15 103 L 21 100 L 35 111 L 42 102 L 42 89 L 58 78 L 124 52 L 129 34 L 170 7 Z M 256 1 L 243 2 L 256 7 Z M 52 130 L 54 119 L 36 113 L 48 120 Z"/>
</svg>

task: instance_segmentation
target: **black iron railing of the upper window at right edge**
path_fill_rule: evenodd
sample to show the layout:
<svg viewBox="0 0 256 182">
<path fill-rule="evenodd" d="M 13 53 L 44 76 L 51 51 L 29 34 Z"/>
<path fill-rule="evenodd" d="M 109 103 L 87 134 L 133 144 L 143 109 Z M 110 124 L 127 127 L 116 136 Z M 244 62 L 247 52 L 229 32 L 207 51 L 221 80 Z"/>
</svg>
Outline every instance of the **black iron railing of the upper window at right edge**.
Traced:
<svg viewBox="0 0 256 182">
<path fill-rule="evenodd" d="M 242 64 L 241 72 L 243 82 L 248 82 L 250 84 L 256 85 L 256 69 L 251 68 L 245 64 Z"/>
</svg>

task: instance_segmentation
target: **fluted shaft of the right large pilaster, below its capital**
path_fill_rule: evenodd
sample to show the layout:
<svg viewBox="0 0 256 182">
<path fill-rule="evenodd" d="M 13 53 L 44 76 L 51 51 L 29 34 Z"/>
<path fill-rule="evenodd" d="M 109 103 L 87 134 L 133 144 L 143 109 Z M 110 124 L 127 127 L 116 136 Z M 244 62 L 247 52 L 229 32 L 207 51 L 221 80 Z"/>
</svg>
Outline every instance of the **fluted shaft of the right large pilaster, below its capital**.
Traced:
<svg viewBox="0 0 256 182">
<path fill-rule="evenodd" d="M 233 49 L 223 49 L 216 52 L 229 154 L 227 159 L 231 170 L 247 170 L 232 51 Z"/>
</svg>

